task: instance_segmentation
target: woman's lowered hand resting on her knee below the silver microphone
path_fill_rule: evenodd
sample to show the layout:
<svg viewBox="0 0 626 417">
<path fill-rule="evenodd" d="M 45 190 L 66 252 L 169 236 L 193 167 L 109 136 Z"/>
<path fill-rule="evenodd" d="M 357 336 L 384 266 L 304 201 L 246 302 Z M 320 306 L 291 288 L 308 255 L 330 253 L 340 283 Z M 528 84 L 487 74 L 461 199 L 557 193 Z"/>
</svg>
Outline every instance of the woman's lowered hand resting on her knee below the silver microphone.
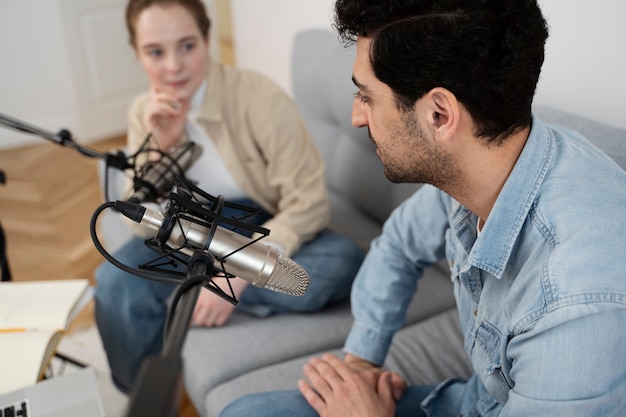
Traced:
<svg viewBox="0 0 626 417">
<path fill-rule="evenodd" d="M 231 280 L 231 285 L 235 296 L 239 298 L 248 286 L 248 282 L 236 278 Z M 221 327 L 226 324 L 234 310 L 235 305 L 206 288 L 202 288 L 191 316 L 191 324 L 200 327 Z"/>
</svg>

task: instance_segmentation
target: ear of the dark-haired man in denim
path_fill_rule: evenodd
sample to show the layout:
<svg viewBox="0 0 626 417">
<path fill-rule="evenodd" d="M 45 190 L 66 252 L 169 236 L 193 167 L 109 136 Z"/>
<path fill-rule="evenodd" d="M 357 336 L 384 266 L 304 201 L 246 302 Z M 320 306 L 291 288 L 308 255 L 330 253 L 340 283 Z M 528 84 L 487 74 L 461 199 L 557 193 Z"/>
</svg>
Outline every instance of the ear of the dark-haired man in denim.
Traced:
<svg viewBox="0 0 626 417">
<path fill-rule="evenodd" d="M 449 140 L 459 124 L 460 109 L 456 96 L 448 89 L 436 87 L 426 93 L 428 125 L 437 140 Z"/>
</svg>

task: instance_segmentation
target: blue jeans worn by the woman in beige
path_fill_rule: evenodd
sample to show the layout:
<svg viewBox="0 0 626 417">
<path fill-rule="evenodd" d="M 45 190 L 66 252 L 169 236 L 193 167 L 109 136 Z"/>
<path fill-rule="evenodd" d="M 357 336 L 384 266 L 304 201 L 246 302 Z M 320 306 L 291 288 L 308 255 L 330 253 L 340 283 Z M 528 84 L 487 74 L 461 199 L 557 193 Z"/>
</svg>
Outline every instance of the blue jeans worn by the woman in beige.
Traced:
<svg viewBox="0 0 626 417">
<path fill-rule="evenodd" d="M 142 239 L 134 238 L 114 257 L 136 268 L 156 255 Z M 292 256 L 311 278 L 304 296 L 294 297 L 250 285 L 241 295 L 237 311 L 259 317 L 312 312 L 347 299 L 363 258 L 363 251 L 350 239 L 323 230 Z M 161 351 L 168 302 L 176 286 L 137 277 L 109 262 L 98 268 L 96 280 L 96 324 L 113 382 L 121 391 L 129 392 L 143 360 Z"/>
</svg>

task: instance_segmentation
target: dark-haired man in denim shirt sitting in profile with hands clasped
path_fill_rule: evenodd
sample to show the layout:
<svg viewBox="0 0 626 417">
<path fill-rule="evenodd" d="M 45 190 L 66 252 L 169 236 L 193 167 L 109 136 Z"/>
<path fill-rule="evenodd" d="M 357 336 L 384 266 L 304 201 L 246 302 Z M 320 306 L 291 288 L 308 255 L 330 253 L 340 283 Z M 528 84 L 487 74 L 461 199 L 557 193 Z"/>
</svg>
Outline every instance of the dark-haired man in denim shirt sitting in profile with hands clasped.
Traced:
<svg viewBox="0 0 626 417">
<path fill-rule="evenodd" d="M 626 406 L 626 173 L 534 117 L 533 0 L 338 0 L 352 121 L 394 182 L 423 182 L 352 289 L 345 358 L 223 416 L 617 416 Z M 474 374 L 406 387 L 380 366 L 423 269 L 447 258 Z M 399 307 L 398 307 L 399 305 Z"/>
</svg>

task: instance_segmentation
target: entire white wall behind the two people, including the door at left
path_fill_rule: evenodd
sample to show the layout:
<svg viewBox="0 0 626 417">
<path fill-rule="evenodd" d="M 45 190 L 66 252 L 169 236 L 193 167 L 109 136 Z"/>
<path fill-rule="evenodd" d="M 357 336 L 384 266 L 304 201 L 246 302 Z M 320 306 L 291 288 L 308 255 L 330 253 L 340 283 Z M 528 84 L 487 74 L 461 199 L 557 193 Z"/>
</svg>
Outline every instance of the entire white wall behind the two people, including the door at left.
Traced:
<svg viewBox="0 0 626 417">
<path fill-rule="evenodd" d="M 626 1 L 539 1 L 551 36 L 536 102 L 626 127 Z M 51 132 L 68 128 L 80 142 L 122 133 L 130 97 L 142 88 L 126 41 L 125 3 L 0 0 L 0 113 Z M 214 1 L 205 3 L 213 12 Z M 87 4 L 102 13 L 86 16 Z M 330 30 L 333 4 L 231 0 L 237 64 L 291 93 L 294 34 Z M 0 125 L 0 149 L 41 141 Z"/>
</svg>

